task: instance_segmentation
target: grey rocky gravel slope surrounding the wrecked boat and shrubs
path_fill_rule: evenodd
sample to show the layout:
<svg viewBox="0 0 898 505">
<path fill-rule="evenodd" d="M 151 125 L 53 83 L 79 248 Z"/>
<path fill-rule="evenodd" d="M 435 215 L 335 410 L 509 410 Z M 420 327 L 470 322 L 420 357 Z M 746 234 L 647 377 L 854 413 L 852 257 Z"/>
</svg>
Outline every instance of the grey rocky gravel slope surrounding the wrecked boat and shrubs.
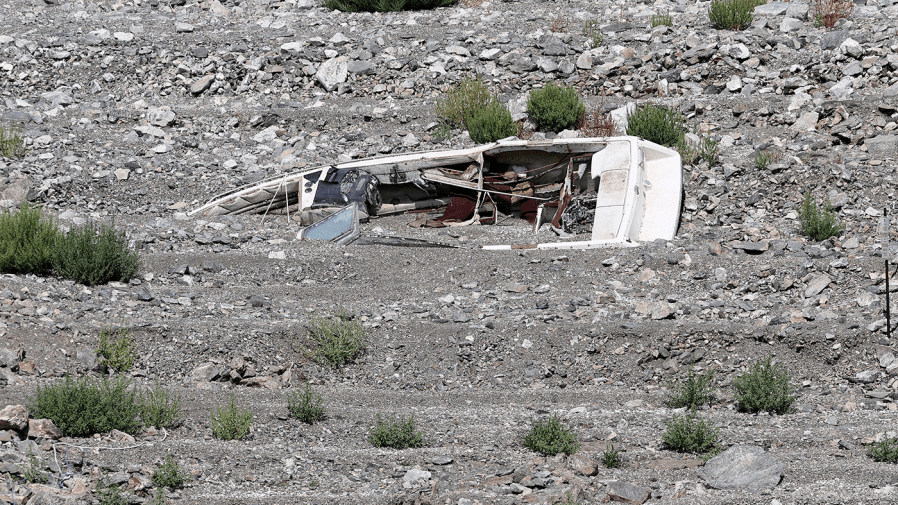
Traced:
<svg viewBox="0 0 898 505">
<path fill-rule="evenodd" d="M 475 4 L 376 15 L 311 0 L 3 4 L 0 123 L 21 125 L 27 151 L 0 161 L 0 201 L 43 201 L 66 226 L 114 218 L 144 263 L 130 283 L 94 288 L 0 277 L 0 407 L 67 371 L 98 374 L 111 325 L 135 337 L 135 383 L 180 392 L 185 420 L 134 441 L 63 438 L 81 447 L 68 466 L 52 433 L 22 442 L 22 425 L 4 429 L 0 501 L 89 501 L 102 475 L 148 501 L 165 454 L 194 476 L 175 503 L 895 500 L 894 467 L 864 444 L 898 418 L 874 236 L 896 184 L 898 5 L 861 1 L 825 30 L 813 7 L 771 3 L 731 32 L 710 27 L 707 2 Z M 672 26 L 652 28 L 666 12 Z M 186 215 L 299 167 L 470 146 L 462 132 L 436 138 L 433 106 L 475 73 L 518 114 L 548 82 L 590 107 L 679 107 L 720 142 L 720 163 L 685 166 L 677 238 L 634 249 L 476 248 L 531 241 L 514 219 L 364 225 L 458 246 L 412 249 L 297 242 L 283 216 Z M 762 150 L 773 162 L 759 168 Z M 832 202 L 839 237 L 800 235 L 807 192 Z M 367 348 L 334 371 L 302 347 L 310 318 L 341 307 Z M 801 387 L 795 411 L 737 412 L 732 381 L 771 354 Z M 714 489 L 701 459 L 662 448 L 666 381 L 693 361 L 722 388 L 701 415 L 724 447 L 780 461 L 779 485 Z M 313 426 L 286 411 L 306 378 L 327 401 Z M 252 432 L 219 441 L 209 412 L 232 392 Z M 426 447 L 373 448 L 376 413 L 414 414 Z M 522 446 L 552 413 L 583 442 L 576 457 Z M 599 463 L 609 445 L 625 448 L 622 468 Z M 11 489 L 29 450 L 62 490 Z"/>
</svg>

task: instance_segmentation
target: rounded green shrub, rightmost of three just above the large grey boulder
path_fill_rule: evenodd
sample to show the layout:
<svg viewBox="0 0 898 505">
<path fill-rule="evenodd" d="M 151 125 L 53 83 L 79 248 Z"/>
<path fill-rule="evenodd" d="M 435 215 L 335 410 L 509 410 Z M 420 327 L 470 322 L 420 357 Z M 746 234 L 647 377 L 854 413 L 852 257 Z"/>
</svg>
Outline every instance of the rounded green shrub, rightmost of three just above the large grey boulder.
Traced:
<svg viewBox="0 0 898 505">
<path fill-rule="evenodd" d="M 798 399 L 796 387 L 789 383 L 789 372 L 772 357 L 755 362 L 751 369 L 733 381 L 736 403 L 745 412 L 785 414 Z"/>
</svg>

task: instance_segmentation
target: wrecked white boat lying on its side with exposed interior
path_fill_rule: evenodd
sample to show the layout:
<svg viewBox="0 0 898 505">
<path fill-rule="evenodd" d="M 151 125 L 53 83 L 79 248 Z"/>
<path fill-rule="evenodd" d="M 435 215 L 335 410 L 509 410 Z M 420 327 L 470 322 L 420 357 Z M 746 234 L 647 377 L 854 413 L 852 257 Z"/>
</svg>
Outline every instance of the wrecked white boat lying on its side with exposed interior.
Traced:
<svg viewBox="0 0 898 505">
<path fill-rule="evenodd" d="M 638 137 L 500 140 L 304 169 L 216 196 L 190 215 L 286 214 L 302 238 L 350 243 L 369 217 L 445 207 L 412 226 L 492 224 L 498 213 L 588 237 L 484 249 L 586 249 L 670 240 L 683 202 L 680 155 Z"/>
</svg>

